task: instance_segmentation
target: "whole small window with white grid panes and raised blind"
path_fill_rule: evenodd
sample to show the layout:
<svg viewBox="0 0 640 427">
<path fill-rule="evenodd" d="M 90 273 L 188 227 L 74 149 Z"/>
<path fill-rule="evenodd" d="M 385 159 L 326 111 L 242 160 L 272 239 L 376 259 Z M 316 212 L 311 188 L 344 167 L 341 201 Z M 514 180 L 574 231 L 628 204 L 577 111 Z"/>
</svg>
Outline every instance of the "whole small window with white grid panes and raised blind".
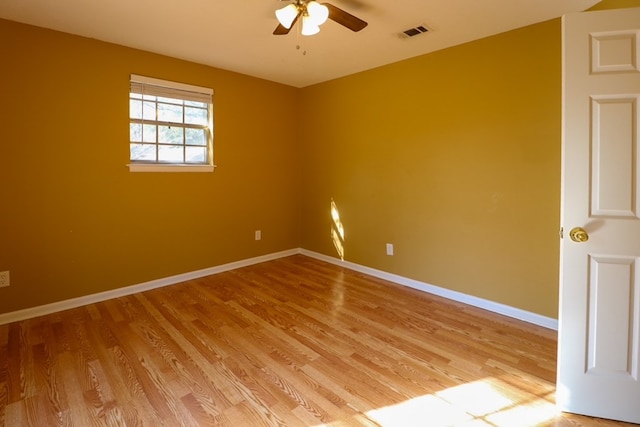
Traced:
<svg viewBox="0 0 640 427">
<path fill-rule="evenodd" d="M 212 171 L 213 90 L 131 75 L 131 171 Z"/>
</svg>

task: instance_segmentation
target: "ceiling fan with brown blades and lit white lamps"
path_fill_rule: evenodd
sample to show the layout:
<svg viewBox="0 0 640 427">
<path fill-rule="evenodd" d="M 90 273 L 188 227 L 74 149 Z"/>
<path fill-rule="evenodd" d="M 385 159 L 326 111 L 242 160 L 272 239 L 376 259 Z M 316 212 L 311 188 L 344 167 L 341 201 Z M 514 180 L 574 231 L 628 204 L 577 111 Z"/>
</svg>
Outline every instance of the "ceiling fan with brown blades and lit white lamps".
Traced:
<svg viewBox="0 0 640 427">
<path fill-rule="evenodd" d="M 320 25 L 327 19 L 337 22 L 350 29 L 360 31 L 368 24 L 329 3 L 318 3 L 315 0 L 292 0 L 291 3 L 276 10 L 278 26 L 273 31 L 275 35 L 289 34 L 291 27 L 302 18 L 302 35 L 311 36 L 320 31 Z"/>
</svg>

